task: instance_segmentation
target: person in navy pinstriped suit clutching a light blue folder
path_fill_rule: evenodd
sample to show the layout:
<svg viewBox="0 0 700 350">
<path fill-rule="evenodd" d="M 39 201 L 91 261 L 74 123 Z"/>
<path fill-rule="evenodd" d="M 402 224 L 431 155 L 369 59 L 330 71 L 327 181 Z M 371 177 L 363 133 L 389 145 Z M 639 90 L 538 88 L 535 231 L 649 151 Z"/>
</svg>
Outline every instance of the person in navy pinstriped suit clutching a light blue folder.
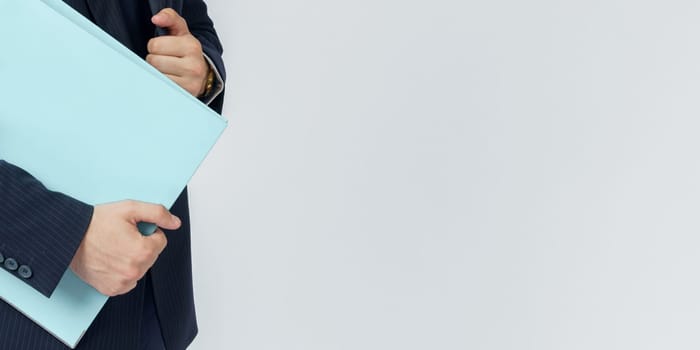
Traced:
<svg viewBox="0 0 700 350">
<path fill-rule="evenodd" d="M 222 47 L 203 0 L 64 1 L 221 112 Z M 46 296 L 70 268 L 111 297 L 78 349 L 185 349 L 197 334 L 186 191 L 171 210 L 126 200 L 93 207 L 0 159 L 0 268 Z M 140 221 L 162 230 L 144 237 Z M 0 349 L 67 347 L 0 301 Z"/>
</svg>

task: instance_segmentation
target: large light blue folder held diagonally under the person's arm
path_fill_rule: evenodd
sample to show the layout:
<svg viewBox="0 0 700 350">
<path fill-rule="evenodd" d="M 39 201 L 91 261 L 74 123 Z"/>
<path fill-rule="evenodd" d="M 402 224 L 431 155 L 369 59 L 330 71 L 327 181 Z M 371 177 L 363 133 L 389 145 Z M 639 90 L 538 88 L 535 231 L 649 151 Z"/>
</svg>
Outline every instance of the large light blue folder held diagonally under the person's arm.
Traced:
<svg viewBox="0 0 700 350">
<path fill-rule="evenodd" d="M 226 126 L 60 0 L 0 0 L 0 33 L 0 159 L 52 190 L 170 207 Z M 1 270 L 0 298 L 72 348 L 107 301 L 70 270 L 51 298 Z"/>
</svg>

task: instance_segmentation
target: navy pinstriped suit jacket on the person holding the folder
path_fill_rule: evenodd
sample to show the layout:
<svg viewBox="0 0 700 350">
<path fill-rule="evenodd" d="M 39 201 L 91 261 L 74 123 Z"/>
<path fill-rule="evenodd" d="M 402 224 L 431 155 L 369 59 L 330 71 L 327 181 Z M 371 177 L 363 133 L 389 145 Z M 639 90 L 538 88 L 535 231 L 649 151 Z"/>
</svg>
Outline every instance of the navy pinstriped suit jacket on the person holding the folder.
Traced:
<svg viewBox="0 0 700 350">
<path fill-rule="evenodd" d="M 138 2 L 146 0 L 64 1 L 133 51 L 145 54 L 142 44 L 153 36 L 153 28 L 148 29 L 150 32 L 135 32 L 139 28 L 145 28 L 143 23 L 131 23 L 134 18 L 124 16 L 124 13 L 136 12 L 136 8 L 130 7 L 142 8 L 143 3 Z M 105 6 L 110 1 L 119 2 L 121 8 L 119 5 Z M 192 34 L 202 43 L 204 52 L 224 76 L 221 44 L 203 0 L 149 1 L 159 2 L 161 8 L 172 7 L 184 17 Z M 150 17 L 150 13 L 145 16 Z M 143 37 L 143 40 L 133 40 L 138 37 Z M 221 112 L 222 104 L 223 94 L 210 106 Z M 31 114 L 31 106 L 27 107 L 27 114 Z M 79 174 L 76 173 L 76 176 Z M 51 295 L 68 268 L 85 234 L 92 212 L 91 206 L 46 189 L 30 174 L 2 161 L 0 150 L 0 254 L 15 259 L 19 264 L 30 266 L 32 276 L 22 280 L 42 294 Z M 176 232 L 166 231 L 168 246 L 146 278 L 151 278 L 153 282 L 155 305 L 165 345 L 169 350 L 179 350 L 185 349 L 197 334 L 186 191 L 177 200 L 172 212 L 182 218 L 182 227 Z M 136 349 L 141 327 L 144 283 L 145 278 L 130 293 L 110 298 L 78 349 Z M 68 348 L 0 300 L 0 349 Z"/>
</svg>

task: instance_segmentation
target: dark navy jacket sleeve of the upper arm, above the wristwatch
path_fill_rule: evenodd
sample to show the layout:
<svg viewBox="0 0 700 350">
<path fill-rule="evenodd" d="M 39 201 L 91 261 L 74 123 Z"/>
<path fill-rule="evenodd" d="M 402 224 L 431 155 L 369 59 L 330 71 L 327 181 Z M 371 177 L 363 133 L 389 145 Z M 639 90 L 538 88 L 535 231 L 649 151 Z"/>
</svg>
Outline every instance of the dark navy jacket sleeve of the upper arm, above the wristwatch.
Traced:
<svg viewBox="0 0 700 350">
<path fill-rule="evenodd" d="M 190 32 L 201 43 L 202 50 L 214 62 L 217 71 L 226 80 L 226 68 L 224 67 L 223 53 L 219 36 L 214 29 L 214 23 L 207 13 L 207 5 L 202 0 L 184 0 L 182 4 L 182 17 L 187 21 Z M 209 104 L 213 110 L 221 113 L 224 104 L 224 92 Z"/>
</svg>

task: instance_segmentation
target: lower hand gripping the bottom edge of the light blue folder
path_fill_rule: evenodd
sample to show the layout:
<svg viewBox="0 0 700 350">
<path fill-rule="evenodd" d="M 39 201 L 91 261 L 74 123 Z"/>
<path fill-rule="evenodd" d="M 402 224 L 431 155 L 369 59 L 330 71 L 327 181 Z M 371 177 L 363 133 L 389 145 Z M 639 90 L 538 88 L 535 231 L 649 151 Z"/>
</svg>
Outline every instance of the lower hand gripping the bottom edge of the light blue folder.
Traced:
<svg viewBox="0 0 700 350">
<path fill-rule="evenodd" d="M 181 224 L 161 205 L 134 201 L 98 205 L 71 262 L 73 272 L 107 296 L 134 289 L 167 244 L 161 230 L 142 235 L 136 227 L 139 222 L 169 230 Z"/>
</svg>

